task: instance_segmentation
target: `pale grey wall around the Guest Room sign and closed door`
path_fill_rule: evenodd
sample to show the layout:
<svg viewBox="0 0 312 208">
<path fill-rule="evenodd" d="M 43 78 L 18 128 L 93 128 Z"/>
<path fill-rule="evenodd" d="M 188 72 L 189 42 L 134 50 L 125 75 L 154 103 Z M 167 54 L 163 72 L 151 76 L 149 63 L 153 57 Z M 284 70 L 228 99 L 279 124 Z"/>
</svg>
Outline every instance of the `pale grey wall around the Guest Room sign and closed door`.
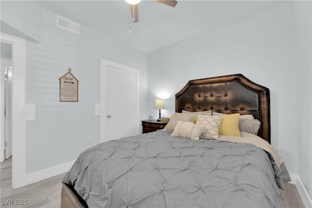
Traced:
<svg viewBox="0 0 312 208">
<path fill-rule="evenodd" d="M 100 101 L 100 58 L 140 69 L 141 119 L 146 114 L 146 54 L 81 24 L 79 35 L 63 30 L 56 15 L 34 1 L 1 1 L 1 21 L 12 29 L 5 32 L 29 37 L 26 102 L 36 104 L 36 120 L 26 122 L 26 173 L 76 160 L 99 143 L 100 117 L 94 109 Z M 59 102 L 59 77 L 69 67 L 79 80 L 79 101 Z"/>
</svg>

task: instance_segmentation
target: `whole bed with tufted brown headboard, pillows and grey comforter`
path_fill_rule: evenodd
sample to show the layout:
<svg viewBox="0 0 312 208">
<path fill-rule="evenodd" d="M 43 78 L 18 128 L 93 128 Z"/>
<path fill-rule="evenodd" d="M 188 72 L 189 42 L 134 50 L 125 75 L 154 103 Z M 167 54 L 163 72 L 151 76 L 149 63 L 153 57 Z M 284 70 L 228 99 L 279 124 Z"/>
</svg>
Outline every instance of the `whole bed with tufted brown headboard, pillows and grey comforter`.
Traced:
<svg viewBox="0 0 312 208">
<path fill-rule="evenodd" d="M 226 123 L 234 115 L 238 136 Z M 290 177 L 270 131 L 268 88 L 241 74 L 191 80 L 166 129 L 81 152 L 62 180 L 61 208 L 284 207 Z"/>
</svg>

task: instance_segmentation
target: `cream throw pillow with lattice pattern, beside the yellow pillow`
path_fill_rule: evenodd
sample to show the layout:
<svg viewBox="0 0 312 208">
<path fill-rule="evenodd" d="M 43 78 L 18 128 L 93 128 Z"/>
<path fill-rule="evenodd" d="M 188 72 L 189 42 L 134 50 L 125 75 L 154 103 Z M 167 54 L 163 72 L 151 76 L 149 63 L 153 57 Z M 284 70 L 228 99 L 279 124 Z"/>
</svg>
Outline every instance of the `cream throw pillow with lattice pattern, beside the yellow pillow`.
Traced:
<svg viewBox="0 0 312 208">
<path fill-rule="evenodd" d="M 222 116 L 218 115 L 198 115 L 196 125 L 202 125 L 205 130 L 201 133 L 200 137 L 205 139 L 218 139 L 218 128 Z"/>
</svg>

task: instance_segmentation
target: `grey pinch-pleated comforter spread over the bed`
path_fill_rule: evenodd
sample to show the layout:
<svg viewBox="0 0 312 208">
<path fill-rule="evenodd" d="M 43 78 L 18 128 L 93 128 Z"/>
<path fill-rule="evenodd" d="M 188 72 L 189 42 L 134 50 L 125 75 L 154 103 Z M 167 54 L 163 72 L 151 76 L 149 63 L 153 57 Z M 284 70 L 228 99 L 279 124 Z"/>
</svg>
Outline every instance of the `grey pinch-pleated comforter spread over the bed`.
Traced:
<svg viewBox="0 0 312 208">
<path fill-rule="evenodd" d="M 284 207 L 270 155 L 157 131 L 83 151 L 63 182 L 89 208 Z"/>
</svg>

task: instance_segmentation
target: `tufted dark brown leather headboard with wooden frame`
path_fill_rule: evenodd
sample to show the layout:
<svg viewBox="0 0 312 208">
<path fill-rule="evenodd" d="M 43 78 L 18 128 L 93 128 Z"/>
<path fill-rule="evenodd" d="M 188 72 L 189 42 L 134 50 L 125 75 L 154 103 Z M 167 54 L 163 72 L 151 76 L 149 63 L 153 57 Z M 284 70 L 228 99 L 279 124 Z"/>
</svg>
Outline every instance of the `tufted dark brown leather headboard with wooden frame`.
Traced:
<svg viewBox="0 0 312 208">
<path fill-rule="evenodd" d="M 241 74 L 190 80 L 176 94 L 176 112 L 252 114 L 261 122 L 258 136 L 271 143 L 270 91 Z"/>
</svg>

